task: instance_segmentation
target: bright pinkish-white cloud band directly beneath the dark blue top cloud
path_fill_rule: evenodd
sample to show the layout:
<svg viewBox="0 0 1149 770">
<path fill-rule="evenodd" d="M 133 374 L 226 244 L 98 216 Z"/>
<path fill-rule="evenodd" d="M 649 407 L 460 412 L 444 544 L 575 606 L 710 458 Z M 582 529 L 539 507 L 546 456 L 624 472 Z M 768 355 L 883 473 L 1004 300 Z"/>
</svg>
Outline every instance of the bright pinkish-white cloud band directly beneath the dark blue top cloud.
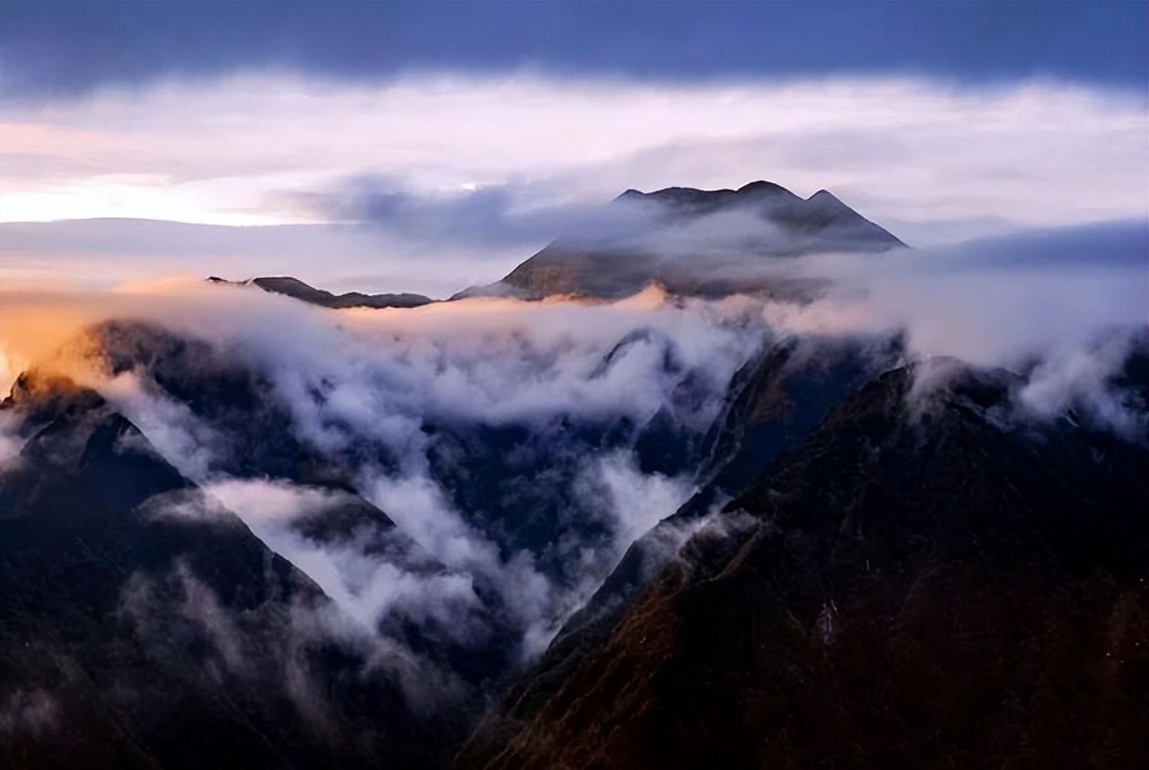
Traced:
<svg viewBox="0 0 1149 770">
<path fill-rule="evenodd" d="M 1054 82 L 442 75 L 370 86 L 268 74 L 103 90 L 2 115 L 6 221 L 88 210 L 299 222 L 313 214 L 276 208 L 269 193 L 330 191 L 362 174 L 425 193 L 530 180 L 552 201 L 580 202 L 764 177 L 805 195 L 833 188 L 871 218 L 911 228 L 1051 225 L 1146 205 L 1143 100 Z"/>
</svg>

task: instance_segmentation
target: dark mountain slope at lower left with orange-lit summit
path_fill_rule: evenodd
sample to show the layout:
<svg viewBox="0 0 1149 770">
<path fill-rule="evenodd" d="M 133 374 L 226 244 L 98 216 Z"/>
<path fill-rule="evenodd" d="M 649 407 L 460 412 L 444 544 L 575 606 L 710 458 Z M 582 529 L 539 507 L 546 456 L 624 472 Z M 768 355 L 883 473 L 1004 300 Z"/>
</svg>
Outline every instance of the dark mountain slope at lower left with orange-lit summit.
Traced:
<svg viewBox="0 0 1149 770">
<path fill-rule="evenodd" d="M 301 626 L 323 591 L 101 396 L 33 372 L 2 408 L 3 767 L 418 764 L 458 730 Z"/>
</svg>

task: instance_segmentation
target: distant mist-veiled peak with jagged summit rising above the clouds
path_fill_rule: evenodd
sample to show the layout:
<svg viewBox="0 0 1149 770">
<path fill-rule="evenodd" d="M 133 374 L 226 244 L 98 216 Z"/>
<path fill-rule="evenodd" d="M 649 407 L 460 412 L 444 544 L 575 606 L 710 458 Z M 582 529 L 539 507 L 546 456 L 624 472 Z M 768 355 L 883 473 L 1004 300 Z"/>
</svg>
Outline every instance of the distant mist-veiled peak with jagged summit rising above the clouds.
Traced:
<svg viewBox="0 0 1149 770">
<path fill-rule="evenodd" d="M 464 294 L 617 299 L 657 283 L 676 294 L 756 292 L 802 301 L 822 284 L 787 276 L 785 257 L 904 246 L 825 190 L 805 200 L 769 182 L 629 190 L 499 284 Z"/>
</svg>

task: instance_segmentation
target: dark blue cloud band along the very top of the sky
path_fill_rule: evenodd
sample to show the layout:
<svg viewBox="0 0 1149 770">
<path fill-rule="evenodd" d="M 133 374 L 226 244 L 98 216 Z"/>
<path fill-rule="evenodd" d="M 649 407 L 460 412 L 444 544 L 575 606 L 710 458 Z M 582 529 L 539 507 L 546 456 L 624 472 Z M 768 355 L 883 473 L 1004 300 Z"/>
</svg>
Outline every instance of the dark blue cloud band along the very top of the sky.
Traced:
<svg viewBox="0 0 1149 770">
<path fill-rule="evenodd" d="M 1143 2 L 5 2 L 2 92 L 77 94 L 169 75 L 287 68 L 699 79 L 925 74 L 1140 88 Z"/>
</svg>

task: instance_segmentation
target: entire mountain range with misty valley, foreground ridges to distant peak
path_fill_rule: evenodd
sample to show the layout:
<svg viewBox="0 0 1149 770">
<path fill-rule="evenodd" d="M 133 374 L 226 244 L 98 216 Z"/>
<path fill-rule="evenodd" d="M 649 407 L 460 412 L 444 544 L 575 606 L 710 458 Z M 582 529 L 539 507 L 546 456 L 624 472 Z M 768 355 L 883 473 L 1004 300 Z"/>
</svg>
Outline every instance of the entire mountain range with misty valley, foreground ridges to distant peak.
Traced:
<svg viewBox="0 0 1149 770">
<path fill-rule="evenodd" d="M 86 328 L 0 406 L 3 765 L 1146 767 L 1149 330 L 1036 409 L 770 321 L 903 251 L 627 191 L 454 301 Z"/>
</svg>

